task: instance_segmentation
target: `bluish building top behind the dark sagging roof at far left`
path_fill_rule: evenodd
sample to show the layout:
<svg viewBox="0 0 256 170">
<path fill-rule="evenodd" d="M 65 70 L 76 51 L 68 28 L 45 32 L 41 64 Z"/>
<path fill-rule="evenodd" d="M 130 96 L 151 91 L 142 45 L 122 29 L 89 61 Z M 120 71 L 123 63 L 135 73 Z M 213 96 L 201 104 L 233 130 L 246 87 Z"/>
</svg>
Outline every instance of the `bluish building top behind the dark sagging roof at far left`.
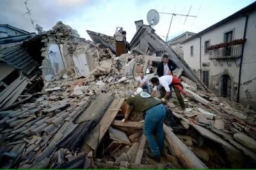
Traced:
<svg viewBox="0 0 256 170">
<path fill-rule="evenodd" d="M 8 36 L 22 36 L 24 34 L 29 34 L 29 32 L 8 24 L 0 24 L 0 38 Z"/>
</svg>

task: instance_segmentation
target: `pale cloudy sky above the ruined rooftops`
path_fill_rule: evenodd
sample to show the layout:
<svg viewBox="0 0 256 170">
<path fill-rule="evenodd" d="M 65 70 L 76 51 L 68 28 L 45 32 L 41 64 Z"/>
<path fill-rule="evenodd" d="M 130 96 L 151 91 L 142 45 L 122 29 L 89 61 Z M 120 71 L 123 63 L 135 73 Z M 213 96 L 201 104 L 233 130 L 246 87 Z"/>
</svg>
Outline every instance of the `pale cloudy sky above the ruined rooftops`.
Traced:
<svg viewBox="0 0 256 170">
<path fill-rule="evenodd" d="M 29 32 L 35 32 L 26 13 L 25 0 L 0 0 L 0 24 L 9 24 Z M 177 13 L 195 17 L 174 16 L 168 39 L 183 32 L 200 32 L 232 15 L 253 0 L 28 0 L 31 17 L 44 31 L 62 21 L 76 29 L 82 38 L 90 39 L 86 30 L 113 36 L 116 27 L 127 32 L 131 41 L 136 32 L 134 21 L 147 22 L 149 10 Z M 165 40 L 172 15 L 159 14 L 154 26 L 156 33 Z M 186 20 L 186 22 L 185 22 Z"/>
</svg>

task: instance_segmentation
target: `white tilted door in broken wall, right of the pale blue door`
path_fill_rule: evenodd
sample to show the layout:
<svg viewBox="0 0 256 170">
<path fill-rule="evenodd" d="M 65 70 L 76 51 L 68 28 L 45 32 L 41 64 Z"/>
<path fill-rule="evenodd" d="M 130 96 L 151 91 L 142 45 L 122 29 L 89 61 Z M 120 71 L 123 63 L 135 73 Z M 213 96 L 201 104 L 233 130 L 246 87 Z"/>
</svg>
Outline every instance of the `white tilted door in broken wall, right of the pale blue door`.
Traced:
<svg viewBox="0 0 256 170">
<path fill-rule="evenodd" d="M 73 55 L 77 76 L 89 76 L 90 69 L 87 64 L 86 55 L 84 53 L 75 53 Z"/>
</svg>

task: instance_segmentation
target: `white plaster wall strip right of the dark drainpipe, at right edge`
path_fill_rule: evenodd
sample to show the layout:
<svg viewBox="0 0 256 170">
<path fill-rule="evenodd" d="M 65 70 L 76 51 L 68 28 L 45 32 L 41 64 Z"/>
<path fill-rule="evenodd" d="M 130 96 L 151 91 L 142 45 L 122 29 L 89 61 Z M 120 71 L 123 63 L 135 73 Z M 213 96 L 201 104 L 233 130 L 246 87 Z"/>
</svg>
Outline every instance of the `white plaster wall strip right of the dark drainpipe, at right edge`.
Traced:
<svg viewBox="0 0 256 170">
<path fill-rule="evenodd" d="M 244 45 L 240 101 L 256 108 L 256 11 L 250 13 Z"/>
</svg>

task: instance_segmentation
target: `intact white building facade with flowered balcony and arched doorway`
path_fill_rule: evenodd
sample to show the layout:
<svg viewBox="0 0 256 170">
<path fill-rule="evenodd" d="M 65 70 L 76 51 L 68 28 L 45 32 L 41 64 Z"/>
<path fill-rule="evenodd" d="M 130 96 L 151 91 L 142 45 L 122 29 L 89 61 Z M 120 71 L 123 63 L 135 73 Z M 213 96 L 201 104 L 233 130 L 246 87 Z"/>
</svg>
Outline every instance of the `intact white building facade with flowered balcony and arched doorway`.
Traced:
<svg viewBox="0 0 256 170">
<path fill-rule="evenodd" d="M 256 2 L 183 41 L 184 60 L 218 96 L 256 106 Z"/>
</svg>

